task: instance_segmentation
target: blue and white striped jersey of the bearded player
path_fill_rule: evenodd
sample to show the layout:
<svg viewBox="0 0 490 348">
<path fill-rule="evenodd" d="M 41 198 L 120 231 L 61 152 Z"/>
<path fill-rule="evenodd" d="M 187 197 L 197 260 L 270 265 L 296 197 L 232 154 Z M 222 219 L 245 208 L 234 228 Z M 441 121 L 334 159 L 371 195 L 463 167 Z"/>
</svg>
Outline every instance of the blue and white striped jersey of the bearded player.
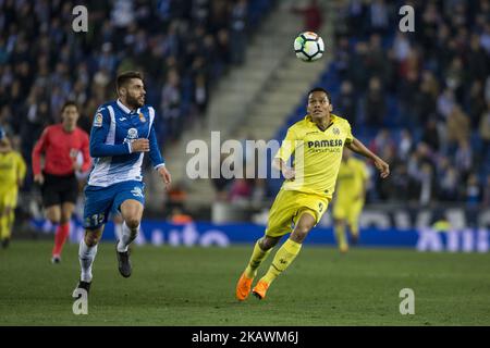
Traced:
<svg viewBox="0 0 490 348">
<path fill-rule="evenodd" d="M 164 165 L 155 134 L 155 109 L 144 105 L 131 111 L 120 100 L 102 104 L 96 112 L 90 132 L 94 167 L 88 185 L 107 187 L 127 181 L 143 181 L 144 152 L 131 152 L 131 142 L 148 138 L 149 157 L 155 169 Z"/>
</svg>

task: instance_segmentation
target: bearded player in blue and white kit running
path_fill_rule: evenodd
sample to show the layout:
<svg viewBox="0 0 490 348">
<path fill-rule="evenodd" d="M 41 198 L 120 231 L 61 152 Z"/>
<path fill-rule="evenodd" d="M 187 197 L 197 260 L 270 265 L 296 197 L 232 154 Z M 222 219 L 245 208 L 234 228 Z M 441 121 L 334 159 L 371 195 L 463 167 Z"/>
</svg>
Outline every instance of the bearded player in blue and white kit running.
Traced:
<svg viewBox="0 0 490 348">
<path fill-rule="evenodd" d="M 118 76 L 119 99 L 102 104 L 96 112 L 90 132 L 94 167 L 85 187 L 85 238 L 79 243 L 82 275 L 77 288 L 89 290 L 91 265 L 97 244 L 109 213 L 120 211 L 124 220 L 117 245 L 119 271 L 131 275 L 128 246 L 136 238 L 145 204 L 142 164 L 149 153 L 155 170 L 167 188 L 171 175 L 166 169 L 155 133 L 155 109 L 145 104 L 145 86 L 138 72 Z"/>
</svg>

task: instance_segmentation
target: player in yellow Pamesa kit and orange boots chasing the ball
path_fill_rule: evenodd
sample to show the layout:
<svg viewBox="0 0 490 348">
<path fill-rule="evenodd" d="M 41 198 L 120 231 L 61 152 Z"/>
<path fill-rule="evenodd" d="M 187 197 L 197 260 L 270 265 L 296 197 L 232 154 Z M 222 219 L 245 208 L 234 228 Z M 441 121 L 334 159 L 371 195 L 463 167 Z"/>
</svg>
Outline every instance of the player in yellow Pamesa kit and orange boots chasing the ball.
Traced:
<svg viewBox="0 0 490 348">
<path fill-rule="evenodd" d="M 307 115 L 287 129 L 273 161 L 285 181 L 270 209 L 265 236 L 257 240 L 236 284 L 235 295 L 241 301 L 250 290 L 257 298 L 265 298 L 271 283 L 299 253 L 303 241 L 332 199 L 344 146 L 372 160 L 382 178 L 390 174 L 388 163 L 357 140 L 348 122 L 332 114 L 332 110 L 328 91 L 314 88 L 308 94 Z M 290 167 L 287 161 L 293 153 L 295 160 Z M 290 237 L 279 248 L 266 275 L 252 289 L 258 266 L 289 233 Z"/>
</svg>

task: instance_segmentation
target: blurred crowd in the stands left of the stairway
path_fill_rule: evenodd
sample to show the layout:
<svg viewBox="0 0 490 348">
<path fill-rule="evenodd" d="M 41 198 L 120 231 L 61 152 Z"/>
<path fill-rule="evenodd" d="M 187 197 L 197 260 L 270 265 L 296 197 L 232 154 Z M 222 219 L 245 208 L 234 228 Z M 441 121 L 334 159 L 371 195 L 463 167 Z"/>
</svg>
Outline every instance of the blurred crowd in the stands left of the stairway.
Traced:
<svg viewBox="0 0 490 348">
<path fill-rule="evenodd" d="M 270 3 L 87 0 L 88 32 L 75 33 L 78 2 L 0 0 L 0 124 L 30 167 L 35 141 L 66 100 L 89 132 L 98 105 L 115 98 L 118 72 L 137 70 L 158 111 L 159 140 L 175 141 L 203 119 L 212 85 L 244 62 L 250 27 Z"/>
</svg>

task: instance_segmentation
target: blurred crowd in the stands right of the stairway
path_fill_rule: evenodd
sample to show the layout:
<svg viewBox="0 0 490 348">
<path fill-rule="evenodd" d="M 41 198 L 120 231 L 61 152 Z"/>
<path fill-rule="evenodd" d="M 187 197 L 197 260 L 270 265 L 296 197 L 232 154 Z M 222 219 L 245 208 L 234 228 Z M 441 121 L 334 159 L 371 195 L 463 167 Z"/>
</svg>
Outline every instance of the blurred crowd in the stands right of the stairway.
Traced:
<svg viewBox="0 0 490 348">
<path fill-rule="evenodd" d="M 415 10 L 402 33 L 399 9 Z M 345 1 L 334 109 L 391 164 L 368 200 L 490 206 L 490 1 Z"/>
</svg>

